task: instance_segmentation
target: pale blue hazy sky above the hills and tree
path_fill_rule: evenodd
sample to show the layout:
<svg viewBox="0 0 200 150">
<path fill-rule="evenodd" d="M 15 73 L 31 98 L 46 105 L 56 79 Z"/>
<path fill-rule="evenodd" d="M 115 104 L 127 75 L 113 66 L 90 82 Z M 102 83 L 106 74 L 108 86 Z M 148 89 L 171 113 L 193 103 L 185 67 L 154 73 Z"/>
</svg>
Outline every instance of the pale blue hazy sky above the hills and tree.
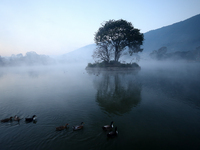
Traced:
<svg viewBox="0 0 200 150">
<path fill-rule="evenodd" d="M 142 33 L 200 14 L 200 0 L 0 0 L 0 56 L 60 55 L 94 43 L 110 19 Z"/>
</svg>

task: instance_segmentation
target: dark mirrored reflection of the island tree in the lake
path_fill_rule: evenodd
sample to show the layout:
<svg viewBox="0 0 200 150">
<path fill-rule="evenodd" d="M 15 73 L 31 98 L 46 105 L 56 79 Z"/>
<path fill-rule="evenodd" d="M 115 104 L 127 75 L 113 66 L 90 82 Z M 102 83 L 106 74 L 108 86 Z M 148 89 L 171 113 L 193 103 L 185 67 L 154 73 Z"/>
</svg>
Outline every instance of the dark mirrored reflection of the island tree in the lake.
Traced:
<svg viewBox="0 0 200 150">
<path fill-rule="evenodd" d="M 95 74 L 94 72 L 91 72 Z M 137 72 L 101 71 L 94 79 L 96 101 L 109 114 L 121 115 L 131 111 L 141 101 L 141 84 Z"/>
</svg>

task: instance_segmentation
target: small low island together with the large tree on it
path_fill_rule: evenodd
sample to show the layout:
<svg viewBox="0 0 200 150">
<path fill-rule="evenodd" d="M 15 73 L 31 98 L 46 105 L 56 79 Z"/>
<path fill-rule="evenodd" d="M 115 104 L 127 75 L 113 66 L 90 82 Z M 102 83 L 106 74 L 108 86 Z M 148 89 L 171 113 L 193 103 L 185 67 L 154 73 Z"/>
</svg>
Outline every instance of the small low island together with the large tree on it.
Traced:
<svg viewBox="0 0 200 150">
<path fill-rule="evenodd" d="M 95 63 L 88 63 L 86 69 L 104 70 L 138 70 L 137 63 L 121 63 L 119 58 L 124 55 L 142 52 L 144 36 L 139 29 L 126 20 L 109 20 L 95 33 L 94 41 L 97 48 L 92 55 Z"/>
</svg>

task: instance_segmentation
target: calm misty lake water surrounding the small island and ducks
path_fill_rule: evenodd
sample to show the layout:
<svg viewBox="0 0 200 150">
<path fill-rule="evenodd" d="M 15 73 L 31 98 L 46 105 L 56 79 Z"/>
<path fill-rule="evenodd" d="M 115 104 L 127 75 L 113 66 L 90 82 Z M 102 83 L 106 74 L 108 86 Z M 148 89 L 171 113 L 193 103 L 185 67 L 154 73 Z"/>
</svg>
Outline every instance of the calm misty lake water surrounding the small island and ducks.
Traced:
<svg viewBox="0 0 200 150">
<path fill-rule="evenodd" d="M 86 65 L 0 68 L 0 119 L 23 118 L 0 123 L 0 149 L 199 148 L 200 64 L 140 62 L 133 72 Z M 26 123 L 32 115 L 37 122 Z M 111 121 L 119 134 L 110 139 L 101 127 Z"/>
</svg>

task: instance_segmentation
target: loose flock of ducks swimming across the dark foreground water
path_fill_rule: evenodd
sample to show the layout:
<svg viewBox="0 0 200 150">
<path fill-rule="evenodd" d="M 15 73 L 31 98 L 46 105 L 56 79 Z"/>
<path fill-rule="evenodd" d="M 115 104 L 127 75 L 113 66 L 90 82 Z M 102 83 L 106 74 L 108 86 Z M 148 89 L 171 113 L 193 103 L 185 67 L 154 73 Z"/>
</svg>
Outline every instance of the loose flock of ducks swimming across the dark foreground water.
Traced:
<svg viewBox="0 0 200 150">
<path fill-rule="evenodd" d="M 25 118 L 25 121 L 26 122 L 36 121 L 36 118 L 37 118 L 37 116 L 33 115 L 31 118 Z M 1 122 L 10 122 L 10 121 L 18 121 L 19 122 L 22 119 L 23 118 L 19 118 L 17 115 L 15 115 L 14 117 L 10 117 L 10 118 L 6 118 L 6 119 L 1 120 Z M 113 123 L 114 122 L 112 121 L 109 125 L 104 125 L 102 127 L 102 129 L 104 131 L 109 131 L 108 134 L 107 134 L 107 137 L 116 137 L 118 135 L 117 127 L 115 127 L 115 130 L 113 131 L 113 127 L 114 127 Z M 84 124 L 84 122 L 81 122 L 80 125 L 72 126 L 72 129 L 74 131 L 83 129 L 83 124 Z M 66 129 L 68 125 L 69 124 L 67 123 L 65 126 L 56 127 L 56 131 L 62 131 L 64 129 Z"/>
</svg>

